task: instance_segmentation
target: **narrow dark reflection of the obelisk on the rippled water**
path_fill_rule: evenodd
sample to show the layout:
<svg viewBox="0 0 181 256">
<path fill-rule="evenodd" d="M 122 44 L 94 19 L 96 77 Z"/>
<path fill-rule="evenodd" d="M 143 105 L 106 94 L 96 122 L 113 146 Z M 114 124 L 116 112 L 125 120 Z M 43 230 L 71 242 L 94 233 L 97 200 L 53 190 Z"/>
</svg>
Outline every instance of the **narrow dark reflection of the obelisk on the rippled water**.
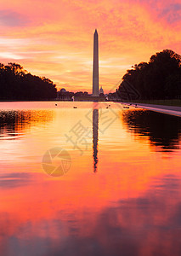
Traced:
<svg viewBox="0 0 181 256">
<path fill-rule="evenodd" d="M 93 109 L 93 172 L 98 168 L 99 110 Z"/>
</svg>

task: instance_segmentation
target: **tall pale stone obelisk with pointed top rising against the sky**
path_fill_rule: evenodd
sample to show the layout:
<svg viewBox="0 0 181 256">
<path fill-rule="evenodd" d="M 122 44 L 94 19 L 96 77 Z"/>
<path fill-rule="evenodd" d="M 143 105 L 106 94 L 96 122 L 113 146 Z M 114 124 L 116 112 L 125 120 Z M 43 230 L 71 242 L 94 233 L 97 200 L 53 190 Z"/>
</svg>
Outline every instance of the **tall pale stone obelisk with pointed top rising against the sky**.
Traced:
<svg viewBox="0 0 181 256">
<path fill-rule="evenodd" d="M 97 29 L 93 35 L 93 96 L 99 96 L 99 44 Z"/>
</svg>

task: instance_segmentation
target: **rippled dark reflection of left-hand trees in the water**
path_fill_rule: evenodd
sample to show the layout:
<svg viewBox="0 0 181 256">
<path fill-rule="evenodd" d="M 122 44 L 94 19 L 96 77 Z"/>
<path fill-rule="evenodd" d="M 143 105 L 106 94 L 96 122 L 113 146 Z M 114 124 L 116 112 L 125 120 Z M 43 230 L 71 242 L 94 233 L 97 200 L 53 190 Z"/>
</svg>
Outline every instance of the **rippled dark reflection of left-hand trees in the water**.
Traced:
<svg viewBox="0 0 181 256">
<path fill-rule="evenodd" d="M 31 125 L 44 124 L 53 119 L 53 112 L 48 110 L 9 110 L 0 111 L 0 137 L 18 136 Z"/>
</svg>

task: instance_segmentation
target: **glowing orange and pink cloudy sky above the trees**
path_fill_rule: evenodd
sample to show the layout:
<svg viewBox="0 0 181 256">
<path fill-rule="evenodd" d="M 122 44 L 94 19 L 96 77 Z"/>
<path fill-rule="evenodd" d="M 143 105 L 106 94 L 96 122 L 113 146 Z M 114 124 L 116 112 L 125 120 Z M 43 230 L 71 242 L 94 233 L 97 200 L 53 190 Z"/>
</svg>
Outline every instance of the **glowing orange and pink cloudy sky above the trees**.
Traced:
<svg viewBox="0 0 181 256">
<path fill-rule="evenodd" d="M 162 49 L 181 54 L 177 0 L 8 0 L 0 9 L 0 62 L 17 62 L 58 88 L 92 89 L 93 32 L 106 92 L 127 68 Z"/>
</svg>

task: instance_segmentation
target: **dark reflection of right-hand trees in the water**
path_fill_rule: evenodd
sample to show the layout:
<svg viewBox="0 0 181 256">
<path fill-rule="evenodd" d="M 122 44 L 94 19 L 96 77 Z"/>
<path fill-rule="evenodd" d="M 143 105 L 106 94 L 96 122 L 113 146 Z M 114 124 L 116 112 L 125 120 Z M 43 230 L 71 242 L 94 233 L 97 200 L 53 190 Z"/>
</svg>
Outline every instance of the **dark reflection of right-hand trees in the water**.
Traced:
<svg viewBox="0 0 181 256">
<path fill-rule="evenodd" d="M 149 137 L 152 146 L 162 151 L 178 148 L 181 119 L 169 114 L 152 111 L 126 111 L 122 114 L 123 123 L 129 131 L 139 137 Z"/>
</svg>

